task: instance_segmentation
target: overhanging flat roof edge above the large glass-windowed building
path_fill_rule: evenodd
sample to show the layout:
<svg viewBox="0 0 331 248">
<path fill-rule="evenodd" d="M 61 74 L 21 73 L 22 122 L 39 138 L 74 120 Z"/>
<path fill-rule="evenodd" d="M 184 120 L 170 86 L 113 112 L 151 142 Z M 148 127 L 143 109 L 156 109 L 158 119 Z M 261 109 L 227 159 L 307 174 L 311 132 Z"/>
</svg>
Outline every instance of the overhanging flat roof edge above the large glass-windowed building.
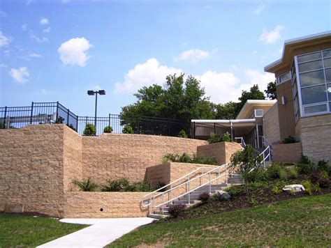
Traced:
<svg viewBox="0 0 331 248">
<path fill-rule="evenodd" d="M 295 38 L 291 40 L 285 40 L 284 47 L 283 47 L 283 54 L 281 59 L 270 63 L 269 65 L 265 66 L 265 72 L 276 72 L 281 68 L 282 65 L 286 65 L 290 63 L 291 56 L 289 54 L 293 52 L 293 49 L 300 48 L 300 47 L 307 47 L 309 45 L 316 45 L 323 42 L 327 38 L 331 41 L 331 31 L 325 31 L 323 33 L 315 33 L 311 36 L 303 36 L 300 38 Z"/>
</svg>

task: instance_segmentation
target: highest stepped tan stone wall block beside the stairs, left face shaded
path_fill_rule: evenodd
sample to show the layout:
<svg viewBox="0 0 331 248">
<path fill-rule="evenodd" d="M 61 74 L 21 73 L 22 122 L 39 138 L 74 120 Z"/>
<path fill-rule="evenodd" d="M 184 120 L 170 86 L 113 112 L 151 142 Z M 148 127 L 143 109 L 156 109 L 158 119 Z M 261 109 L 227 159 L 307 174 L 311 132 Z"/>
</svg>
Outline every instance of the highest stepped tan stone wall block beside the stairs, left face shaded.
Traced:
<svg viewBox="0 0 331 248">
<path fill-rule="evenodd" d="M 230 162 L 231 155 L 241 149 L 235 142 L 219 142 L 198 146 L 198 155 L 215 157 L 217 164 L 222 165 Z"/>
</svg>

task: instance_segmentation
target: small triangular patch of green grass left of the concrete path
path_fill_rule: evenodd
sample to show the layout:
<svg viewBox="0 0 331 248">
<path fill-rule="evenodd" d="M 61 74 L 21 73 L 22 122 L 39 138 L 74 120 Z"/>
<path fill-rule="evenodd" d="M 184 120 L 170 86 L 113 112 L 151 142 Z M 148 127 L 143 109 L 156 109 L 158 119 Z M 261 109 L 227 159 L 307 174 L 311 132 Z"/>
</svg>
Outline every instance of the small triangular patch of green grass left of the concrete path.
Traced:
<svg viewBox="0 0 331 248">
<path fill-rule="evenodd" d="M 50 217 L 0 213 L 0 247 L 34 247 L 86 226 L 62 223 Z"/>
</svg>

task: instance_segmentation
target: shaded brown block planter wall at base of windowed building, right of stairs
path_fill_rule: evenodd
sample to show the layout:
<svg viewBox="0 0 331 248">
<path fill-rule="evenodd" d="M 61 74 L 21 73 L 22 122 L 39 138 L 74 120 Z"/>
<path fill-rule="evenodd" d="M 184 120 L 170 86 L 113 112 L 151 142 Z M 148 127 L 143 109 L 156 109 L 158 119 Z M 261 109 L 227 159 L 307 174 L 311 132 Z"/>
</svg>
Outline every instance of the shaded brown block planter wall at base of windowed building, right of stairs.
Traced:
<svg viewBox="0 0 331 248">
<path fill-rule="evenodd" d="M 302 146 L 300 142 L 293 144 L 273 144 L 272 161 L 274 162 L 300 162 Z"/>
</svg>

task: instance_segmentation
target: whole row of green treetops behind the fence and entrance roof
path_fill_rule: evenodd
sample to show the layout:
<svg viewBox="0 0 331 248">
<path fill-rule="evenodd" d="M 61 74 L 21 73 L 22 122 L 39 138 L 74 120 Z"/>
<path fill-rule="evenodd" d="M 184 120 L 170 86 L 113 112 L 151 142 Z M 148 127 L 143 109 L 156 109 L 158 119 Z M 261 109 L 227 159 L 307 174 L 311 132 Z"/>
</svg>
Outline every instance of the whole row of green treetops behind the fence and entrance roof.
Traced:
<svg viewBox="0 0 331 248">
<path fill-rule="evenodd" d="M 191 75 L 184 79 L 184 74 L 168 75 L 164 86 L 145 86 L 134 95 L 137 102 L 122 107 L 123 125 L 132 123 L 135 116 L 172 118 L 186 122 L 192 119 L 234 119 L 247 100 L 265 99 L 256 84 L 249 91 L 242 91 L 239 102 L 215 104 L 205 96 L 205 88 L 200 86 L 198 79 Z"/>
</svg>

